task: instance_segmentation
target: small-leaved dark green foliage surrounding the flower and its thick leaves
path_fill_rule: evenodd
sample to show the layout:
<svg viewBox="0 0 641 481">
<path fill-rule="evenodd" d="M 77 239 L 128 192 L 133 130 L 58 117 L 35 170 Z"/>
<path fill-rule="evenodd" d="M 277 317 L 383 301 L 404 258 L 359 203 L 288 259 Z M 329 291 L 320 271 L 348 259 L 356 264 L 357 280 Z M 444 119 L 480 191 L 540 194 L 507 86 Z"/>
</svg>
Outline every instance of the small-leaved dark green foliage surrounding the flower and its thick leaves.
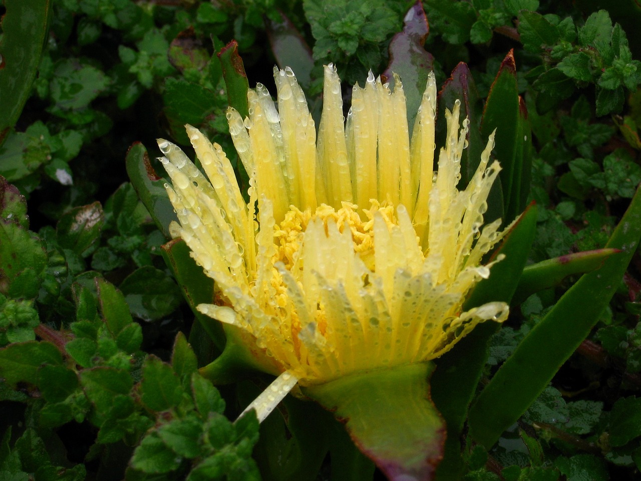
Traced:
<svg viewBox="0 0 641 481">
<path fill-rule="evenodd" d="M 3 4 L 0 478 L 339 479 L 305 426 L 272 416 L 259 440 L 252 416 L 231 422 L 269 378 L 219 391 L 197 371 L 221 346 L 194 322 L 163 259 L 165 233 L 129 183 L 125 158 L 138 141 L 159 154 L 156 137 L 186 146 L 190 123 L 236 163 L 222 47 L 237 40 L 250 85 L 272 92 L 273 65 L 292 67 L 318 116 L 323 63 L 337 65 L 349 99 L 369 70 L 385 72 L 392 59 L 410 56 L 390 42 L 413 3 Z M 37 12 L 46 32 L 40 44 L 20 30 L 18 4 Z M 466 62 L 484 99 L 514 51 L 533 135 L 529 199 L 539 207 L 529 262 L 603 248 L 641 181 L 641 8 L 633 0 L 424 0 L 422 7 L 429 21 L 422 43 L 439 85 Z M 17 97 L 8 96 L 3 71 L 12 68 L 15 38 L 33 47 L 37 69 L 14 115 Z M 155 182 L 160 188 L 163 180 Z M 466 480 L 638 476 L 639 266 L 636 253 L 590 337 L 499 443 L 489 451 L 463 443 Z M 574 280 L 513 309 L 492 337 L 485 380 Z M 287 403 L 290 414 L 303 409 Z M 314 416 L 333 423 L 320 410 Z M 349 444 L 332 433 L 335 446 Z M 344 479 L 380 475 L 354 456 L 360 464 L 352 460 Z"/>
</svg>

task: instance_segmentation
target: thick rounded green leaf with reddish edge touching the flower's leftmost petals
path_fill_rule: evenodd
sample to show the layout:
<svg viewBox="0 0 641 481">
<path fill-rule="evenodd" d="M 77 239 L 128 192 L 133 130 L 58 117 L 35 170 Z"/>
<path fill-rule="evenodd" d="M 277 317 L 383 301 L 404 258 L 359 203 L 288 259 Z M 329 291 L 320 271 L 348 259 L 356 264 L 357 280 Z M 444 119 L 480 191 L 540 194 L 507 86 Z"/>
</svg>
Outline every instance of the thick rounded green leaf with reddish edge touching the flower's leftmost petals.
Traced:
<svg viewBox="0 0 641 481">
<path fill-rule="evenodd" d="M 131 185 L 154 219 L 156 226 L 169 239 L 169 223 L 178 221 L 174 207 L 165 190 L 166 181 L 156 174 L 147 149 L 140 142 L 131 144 L 126 156 L 126 167 Z"/>
</svg>

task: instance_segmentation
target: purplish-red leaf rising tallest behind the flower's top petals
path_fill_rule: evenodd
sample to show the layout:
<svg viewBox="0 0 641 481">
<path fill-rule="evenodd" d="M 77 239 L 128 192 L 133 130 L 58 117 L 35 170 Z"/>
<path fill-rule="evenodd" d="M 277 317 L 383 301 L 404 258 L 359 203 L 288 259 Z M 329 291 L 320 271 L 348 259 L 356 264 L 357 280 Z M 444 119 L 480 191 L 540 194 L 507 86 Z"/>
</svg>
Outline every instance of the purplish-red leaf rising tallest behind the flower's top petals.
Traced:
<svg viewBox="0 0 641 481">
<path fill-rule="evenodd" d="M 393 80 L 392 73 L 401 76 L 411 133 L 420 99 L 428 83 L 428 74 L 433 69 L 434 56 L 423 48 L 429 26 L 420 0 L 410 7 L 403 22 L 403 31 L 394 35 L 390 42 L 390 62 L 381 79 L 386 82 Z"/>
</svg>

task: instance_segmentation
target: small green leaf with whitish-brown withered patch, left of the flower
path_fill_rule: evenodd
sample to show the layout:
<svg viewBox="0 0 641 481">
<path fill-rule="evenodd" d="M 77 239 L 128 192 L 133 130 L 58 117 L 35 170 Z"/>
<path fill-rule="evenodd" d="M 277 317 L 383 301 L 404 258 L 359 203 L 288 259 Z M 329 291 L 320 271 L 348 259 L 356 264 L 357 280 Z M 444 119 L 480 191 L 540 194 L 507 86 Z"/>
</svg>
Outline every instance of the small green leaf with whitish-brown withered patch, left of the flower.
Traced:
<svg viewBox="0 0 641 481">
<path fill-rule="evenodd" d="M 58 242 L 63 249 L 71 249 L 83 257 L 100 239 L 104 224 L 103 207 L 94 202 L 74 207 L 60 217 L 56 224 Z"/>
</svg>

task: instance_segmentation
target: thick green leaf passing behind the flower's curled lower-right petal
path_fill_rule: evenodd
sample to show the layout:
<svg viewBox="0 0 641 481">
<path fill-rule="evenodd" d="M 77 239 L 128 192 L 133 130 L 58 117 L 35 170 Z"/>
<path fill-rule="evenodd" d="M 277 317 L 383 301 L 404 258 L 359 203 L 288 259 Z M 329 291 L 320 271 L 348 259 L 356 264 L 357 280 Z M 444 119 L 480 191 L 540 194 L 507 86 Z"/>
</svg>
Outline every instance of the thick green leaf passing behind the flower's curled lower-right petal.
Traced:
<svg viewBox="0 0 641 481">
<path fill-rule="evenodd" d="M 517 279 L 528 260 L 537 228 L 537 208 L 531 205 L 506 235 L 492 255 L 505 258 L 490 270 L 470 294 L 465 309 L 491 301 L 509 303 Z M 460 434 L 467 417 L 472 396 L 476 391 L 488 355 L 488 341 L 499 325 L 483 323 L 459 341 L 454 348 L 435 360 L 437 369 L 431 378 L 432 399 L 447 423 L 445 455 L 437 467 L 437 480 L 458 479 L 463 473 Z"/>
</svg>

